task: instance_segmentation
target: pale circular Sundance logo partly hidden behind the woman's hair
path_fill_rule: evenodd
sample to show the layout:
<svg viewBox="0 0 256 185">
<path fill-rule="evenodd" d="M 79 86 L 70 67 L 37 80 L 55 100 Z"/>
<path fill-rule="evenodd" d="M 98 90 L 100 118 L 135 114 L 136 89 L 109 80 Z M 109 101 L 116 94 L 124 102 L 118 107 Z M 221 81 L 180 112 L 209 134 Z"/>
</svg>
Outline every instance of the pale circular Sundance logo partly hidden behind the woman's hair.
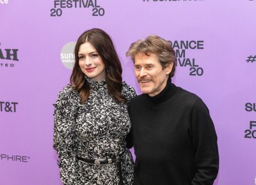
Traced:
<svg viewBox="0 0 256 185">
<path fill-rule="evenodd" d="M 76 46 L 76 42 L 71 41 L 66 43 L 61 49 L 61 54 L 60 54 L 61 62 L 69 70 L 72 70 L 75 64 L 75 55 L 74 55 L 75 46 Z"/>
</svg>

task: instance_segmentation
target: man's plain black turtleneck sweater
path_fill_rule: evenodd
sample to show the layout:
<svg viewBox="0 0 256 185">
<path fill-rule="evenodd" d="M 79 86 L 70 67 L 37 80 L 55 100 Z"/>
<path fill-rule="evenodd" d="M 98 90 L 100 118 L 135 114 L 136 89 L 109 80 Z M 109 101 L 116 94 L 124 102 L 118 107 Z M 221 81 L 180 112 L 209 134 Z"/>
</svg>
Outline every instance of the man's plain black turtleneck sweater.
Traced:
<svg viewBox="0 0 256 185">
<path fill-rule="evenodd" d="M 214 124 L 204 102 L 171 83 L 129 103 L 134 185 L 210 185 L 218 174 Z"/>
</svg>

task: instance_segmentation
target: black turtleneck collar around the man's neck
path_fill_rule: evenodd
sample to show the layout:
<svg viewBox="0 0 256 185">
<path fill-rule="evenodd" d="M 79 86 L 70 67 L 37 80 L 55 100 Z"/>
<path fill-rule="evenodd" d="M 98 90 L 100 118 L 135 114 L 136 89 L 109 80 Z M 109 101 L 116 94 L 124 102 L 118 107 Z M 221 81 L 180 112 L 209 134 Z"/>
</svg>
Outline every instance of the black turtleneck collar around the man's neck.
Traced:
<svg viewBox="0 0 256 185">
<path fill-rule="evenodd" d="M 145 97 L 147 98 L 148 101 L 152 103 L 163 103 L 164 101 L 171 98 L 173 94 L 176 92 L 176 90 L 176 85 L 172 84 L 172 78 L 169 77 L 163 91 L 161 91 L 156 96 L 149 96 L 148 94 L 145 94 Z"/>
</svg>

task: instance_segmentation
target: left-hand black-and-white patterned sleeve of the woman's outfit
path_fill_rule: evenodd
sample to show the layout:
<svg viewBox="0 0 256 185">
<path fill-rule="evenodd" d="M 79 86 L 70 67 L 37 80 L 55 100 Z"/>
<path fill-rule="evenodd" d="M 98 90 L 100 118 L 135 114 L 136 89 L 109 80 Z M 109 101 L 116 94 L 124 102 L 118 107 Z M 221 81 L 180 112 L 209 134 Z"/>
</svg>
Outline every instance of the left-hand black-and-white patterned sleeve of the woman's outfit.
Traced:
<svg viewBox="0 0 256 185">
<path fill-rule="evenodd" d="M 60 177 L 64 184 L 76 184 L 74 132 L 77 102 L 69 85 L 58 94 L 54 110 L 53 147 L 60 160 Z"/>
</svg>

